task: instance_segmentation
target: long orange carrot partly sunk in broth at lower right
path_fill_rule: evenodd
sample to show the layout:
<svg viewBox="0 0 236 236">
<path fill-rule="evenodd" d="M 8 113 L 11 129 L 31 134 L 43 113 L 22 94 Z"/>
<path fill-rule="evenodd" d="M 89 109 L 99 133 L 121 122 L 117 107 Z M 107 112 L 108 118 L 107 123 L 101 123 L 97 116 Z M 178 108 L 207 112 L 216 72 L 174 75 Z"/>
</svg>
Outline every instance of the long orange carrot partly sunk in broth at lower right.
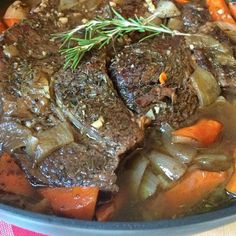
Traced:
<svg viewBox="0 0 236 236">
<path fill-rule="evenodd" d="M 150 210 L 156 209 L 162 218 L 173 217 L 206 198 L 227 178 L 228 172 L 194 170 L 187 173 L 173 188 L 147 202 L 147 207 Z"/>
</svg>

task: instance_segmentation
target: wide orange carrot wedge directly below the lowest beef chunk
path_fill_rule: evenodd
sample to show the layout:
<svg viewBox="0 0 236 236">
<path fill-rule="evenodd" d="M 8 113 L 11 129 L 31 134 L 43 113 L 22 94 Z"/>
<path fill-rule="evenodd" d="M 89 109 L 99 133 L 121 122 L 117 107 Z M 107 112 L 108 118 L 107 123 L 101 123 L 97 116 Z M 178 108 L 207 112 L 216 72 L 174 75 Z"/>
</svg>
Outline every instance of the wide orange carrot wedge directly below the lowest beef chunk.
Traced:
<svg viewBox="0 0 236 236">
<path fill-rule="evenodd" d="M 44 188 L 40 193 L 57 214 L 83 220 L 94 216 L 99 189 L 97 187 Z"/>
</svg>

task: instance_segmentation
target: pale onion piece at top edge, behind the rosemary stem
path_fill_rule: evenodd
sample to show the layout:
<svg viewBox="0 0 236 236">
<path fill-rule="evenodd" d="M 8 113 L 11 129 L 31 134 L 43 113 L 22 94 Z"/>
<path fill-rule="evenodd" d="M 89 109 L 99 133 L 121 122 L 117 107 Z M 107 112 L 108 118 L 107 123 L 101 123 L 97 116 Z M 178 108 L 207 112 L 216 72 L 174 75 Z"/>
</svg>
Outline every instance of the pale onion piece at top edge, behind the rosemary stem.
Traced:
<svg viewBox="0 0 236 236">
<path fill-rule="evenodd" d="M 159 18 L 171 18 L 180 16 L 181 12 L 171 1 L 159 1 L 154 15 Z"/>
</svg>

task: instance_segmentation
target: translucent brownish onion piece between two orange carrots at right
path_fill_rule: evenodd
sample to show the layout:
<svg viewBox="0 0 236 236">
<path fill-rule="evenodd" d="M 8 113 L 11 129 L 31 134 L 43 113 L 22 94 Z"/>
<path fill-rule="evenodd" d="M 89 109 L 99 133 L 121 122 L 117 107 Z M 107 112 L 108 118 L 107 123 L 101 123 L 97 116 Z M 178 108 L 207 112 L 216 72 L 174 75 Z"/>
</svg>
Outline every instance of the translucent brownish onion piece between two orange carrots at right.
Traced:
<svg viewBox="0 0 236 236">
<path fill-rule="evenodd" d="M 232 158 L 223 154 L 200 154 L 194 162 L 201 170 L 224 171 L 232 166 Z"/>
</svg>

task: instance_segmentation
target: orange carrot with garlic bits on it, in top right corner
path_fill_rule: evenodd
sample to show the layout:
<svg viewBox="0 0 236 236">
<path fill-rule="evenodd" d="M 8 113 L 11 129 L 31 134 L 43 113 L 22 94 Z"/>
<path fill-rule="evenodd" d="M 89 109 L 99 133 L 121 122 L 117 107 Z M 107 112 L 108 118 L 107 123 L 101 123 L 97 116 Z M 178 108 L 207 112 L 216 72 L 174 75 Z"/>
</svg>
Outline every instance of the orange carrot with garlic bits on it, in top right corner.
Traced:
<svg viewBox="0 0 236 236">
<path fill-rule="evenodd" d="M 207 6 L 213 21 L 236 24 L 224 0 L 207 0 Z"/>
</svg>

